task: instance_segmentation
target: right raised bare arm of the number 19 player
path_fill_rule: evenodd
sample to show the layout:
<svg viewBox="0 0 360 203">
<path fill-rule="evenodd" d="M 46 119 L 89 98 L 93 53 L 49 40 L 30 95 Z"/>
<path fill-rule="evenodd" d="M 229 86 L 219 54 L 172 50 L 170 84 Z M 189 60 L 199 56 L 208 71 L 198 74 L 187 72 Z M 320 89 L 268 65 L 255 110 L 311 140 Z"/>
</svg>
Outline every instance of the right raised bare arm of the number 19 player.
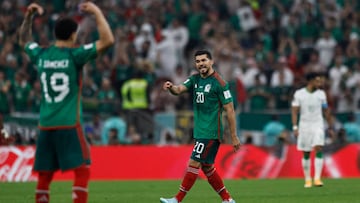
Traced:
<svg viewBox="0 0 360 203">
<path fill-rule="evenodd" d="M 80 10 L 94 14 L 95 16 L 96 25 L 99 32 L 99 40 L 96 41 L 97 52 L 101 53 L 113 45 L 115 41 L 114 35 L 100 8 L 92 2 L 85 2 L 80 4 Z"/>
</svg>

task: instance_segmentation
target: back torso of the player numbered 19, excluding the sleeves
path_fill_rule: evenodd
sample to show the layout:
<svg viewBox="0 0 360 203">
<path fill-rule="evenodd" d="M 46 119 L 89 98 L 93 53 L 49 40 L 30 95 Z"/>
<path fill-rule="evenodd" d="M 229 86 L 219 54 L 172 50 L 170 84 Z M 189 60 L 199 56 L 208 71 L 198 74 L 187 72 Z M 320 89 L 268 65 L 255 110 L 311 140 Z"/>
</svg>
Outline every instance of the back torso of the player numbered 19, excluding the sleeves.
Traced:
<svg viewBox="0 0 360 203">
<path fill-rule="evenodd" d="M 81 68 L 73 60 L 72 50 L 51 46 L 38 59 L 42 85 L 40 126 L 71 126 L 80 119 Z"/>
</svg>

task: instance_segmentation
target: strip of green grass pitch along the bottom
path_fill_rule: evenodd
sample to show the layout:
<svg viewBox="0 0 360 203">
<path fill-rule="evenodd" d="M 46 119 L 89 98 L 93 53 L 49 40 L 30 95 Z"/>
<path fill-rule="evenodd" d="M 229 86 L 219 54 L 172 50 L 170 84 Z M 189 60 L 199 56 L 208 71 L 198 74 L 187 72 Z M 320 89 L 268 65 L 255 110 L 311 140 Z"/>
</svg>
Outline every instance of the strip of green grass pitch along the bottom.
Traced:
<svg viewBox="0 0 360 203">
<path fill-rule="evenodd" d="M 180 180 L 92 181 L 89 203 L 152 203 L 172 197 Z M 324 187 L 303 188 L 302 179 L 226 180 L 237 203 L 360 203 L 360 179 L 324 179 Z M 0 183 L 0 203 L 34 202 L 35 182 Z M 51 202 L 70 203 L 71 182 L 53 182 Z M 184 203 L 221 203 L 210 185 L 199 179 Z"/>
</svg>

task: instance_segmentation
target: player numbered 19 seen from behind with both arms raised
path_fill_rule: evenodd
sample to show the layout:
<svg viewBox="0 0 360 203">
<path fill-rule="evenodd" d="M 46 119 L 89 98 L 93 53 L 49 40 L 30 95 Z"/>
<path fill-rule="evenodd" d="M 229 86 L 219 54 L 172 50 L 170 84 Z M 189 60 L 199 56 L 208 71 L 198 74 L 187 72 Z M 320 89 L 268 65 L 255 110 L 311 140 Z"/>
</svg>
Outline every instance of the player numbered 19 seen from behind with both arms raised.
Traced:
<svg viewBox="0 0 360 203">
<path fill-rule="evenodd" d="M 54 26 L 55 43 L 41 47 L 31 39 L 35 14 L 43 8 L 27 7 L 19 31 L 19 44 L 33 64 L 41 81 L 40 134 L 36 143 L 34 171 L 38 172 L 36 202 L 49 202 L 49 186 L 57 170 L 74 172 L 72 198 L 86 203 L 90 178 L 90 153 L 82 128 L 82 67 L 114 43 L 111 29 L 99 9 L 91 2 L 79 5 L 81 12 L 95 16 L 99 40 L 76 46 L 78 25 L 70 17 L 58 19 Z"/>
</svg>

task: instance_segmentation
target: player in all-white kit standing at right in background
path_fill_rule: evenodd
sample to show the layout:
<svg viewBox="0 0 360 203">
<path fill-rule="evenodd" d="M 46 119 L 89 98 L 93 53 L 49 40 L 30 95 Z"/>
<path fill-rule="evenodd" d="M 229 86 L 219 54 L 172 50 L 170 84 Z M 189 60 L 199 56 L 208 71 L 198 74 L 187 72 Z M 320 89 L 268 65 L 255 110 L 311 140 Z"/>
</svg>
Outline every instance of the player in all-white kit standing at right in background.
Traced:
<svg viewBox="0 0 360 203">
<path fill-rule="evenodd" d="M 305 176 L 305 188 L 312 186 L 310 152 L 315 150 L 314 186 L 323 186 L 321 172 L 323 168 L 322 147 L 325 144 L 324 117 L 332 126 L 331 113 L 327 105 L 326 94 L 319 89 L 323 78 L 318 73 L 306 76 L 307 85 L 294 94 L 291 119 L 294 135 L 297 137 L 297 148 L 303 152 L 302 167 Z M 300 113 L 299 122 L 298 114 Z M 331 129 L 329 127 L 329 129 Z M 333 133 L 332 130 L 329 133 Z"/>
</svg>

